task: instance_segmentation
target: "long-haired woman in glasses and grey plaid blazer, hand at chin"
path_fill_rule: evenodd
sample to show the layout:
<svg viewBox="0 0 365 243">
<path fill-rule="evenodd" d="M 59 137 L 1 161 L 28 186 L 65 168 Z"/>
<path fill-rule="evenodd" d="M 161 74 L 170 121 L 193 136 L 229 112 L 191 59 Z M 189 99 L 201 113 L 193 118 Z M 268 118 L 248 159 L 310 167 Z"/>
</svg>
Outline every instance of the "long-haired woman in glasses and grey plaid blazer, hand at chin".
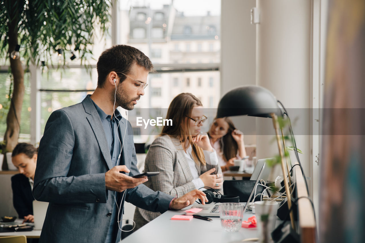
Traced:
<svg viewBox="0 0 365 243">
<path fill-rule="evenodd" d="M 152 190 L 179 197 L 203 186 L 221 188 L 223 178 L 217 154 L 208 135 L 200 131 L 207 119 L 202 108 L 200 100 L 191 93 L 181 93 L 171 101 L 166 119 L 172 119 L 172 126 L 162 128 L 146 156 L 144 172 L 160 172 L 145 182 Z M 135 229 L 159 215 L 136 208 Z"/>
</svg>

